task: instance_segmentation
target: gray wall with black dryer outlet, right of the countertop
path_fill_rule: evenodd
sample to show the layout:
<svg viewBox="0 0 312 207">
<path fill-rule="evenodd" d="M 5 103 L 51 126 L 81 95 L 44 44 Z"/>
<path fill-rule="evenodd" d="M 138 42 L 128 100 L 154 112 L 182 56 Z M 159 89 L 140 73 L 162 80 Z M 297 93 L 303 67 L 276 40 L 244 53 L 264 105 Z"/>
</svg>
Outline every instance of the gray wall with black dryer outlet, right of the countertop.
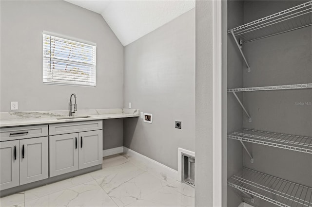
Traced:
<svg viewBox="0 0 312 207">
<path fill-rule="evenodd" d="M 152 124 L 124 120 L 124 146 L 177 170 L 177 148 L 195 151 L 195 9 L 127 45 L 124 57 L 124 106 L 153 114 Z"/>
</svg>

